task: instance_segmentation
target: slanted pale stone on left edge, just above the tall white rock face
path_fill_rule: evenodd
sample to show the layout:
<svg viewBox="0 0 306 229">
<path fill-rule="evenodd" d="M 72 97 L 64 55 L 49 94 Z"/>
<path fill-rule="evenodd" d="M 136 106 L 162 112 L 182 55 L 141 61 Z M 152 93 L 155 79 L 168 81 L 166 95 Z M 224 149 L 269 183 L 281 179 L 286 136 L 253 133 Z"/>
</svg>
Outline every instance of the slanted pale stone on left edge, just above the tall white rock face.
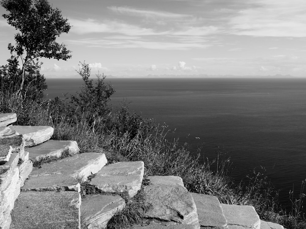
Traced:
<svg viewBox="0 0 306 229">
<path fill-rule="evenodd" d="M 10 156 L 9 161 L 0 166 L 0 193 L 10 184 L 18 160 L 19 154 L 13 153 Z"/>
</svg>

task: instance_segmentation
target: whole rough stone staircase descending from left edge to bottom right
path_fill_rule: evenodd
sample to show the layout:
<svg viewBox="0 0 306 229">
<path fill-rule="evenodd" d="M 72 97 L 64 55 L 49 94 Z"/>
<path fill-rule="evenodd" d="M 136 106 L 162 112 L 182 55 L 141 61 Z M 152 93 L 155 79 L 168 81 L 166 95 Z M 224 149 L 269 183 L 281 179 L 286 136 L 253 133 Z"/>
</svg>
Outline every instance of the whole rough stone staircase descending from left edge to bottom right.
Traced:
<svg viewBox="0 0 306 229">
<path fill-rule="evenodd" d="M 141 188 L 144 163 L 107 164 L 104 153 L 82 153 L 75 141 L 49 140 L 52 127 L 13 126 L 16 114 L 0 114 L 0 229 L 102 229 Z M 10 126 L 7 126 L 10 125 Z M 67 156 L 64 158 L 64 156 Z M 60 158 L 33 168 L 33 162 Z M 93 176 L 94 175 L 94 176 Z M 101 195 L 81 199 L 81 184 Z M 147 177 L 139 209 L 149 225 L 129 228 L 284 229 L 259 219 L 252 206 L 220 204 L 214 196 L 190 193 L 181 177 Z"/>
</svg>

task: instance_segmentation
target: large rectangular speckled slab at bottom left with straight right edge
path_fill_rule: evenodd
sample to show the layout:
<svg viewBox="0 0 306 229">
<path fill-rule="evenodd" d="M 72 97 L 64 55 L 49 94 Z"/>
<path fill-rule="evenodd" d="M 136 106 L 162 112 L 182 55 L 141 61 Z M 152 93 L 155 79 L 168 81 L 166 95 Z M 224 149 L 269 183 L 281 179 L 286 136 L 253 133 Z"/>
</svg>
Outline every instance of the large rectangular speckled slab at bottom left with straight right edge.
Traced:
<svg viewBox="0 0 306 229">
<path fill-rule="evenodd" d="M 11 213 L 10 229 L 80 228 L 80 193 L 21 192 Z"/>
</svg>

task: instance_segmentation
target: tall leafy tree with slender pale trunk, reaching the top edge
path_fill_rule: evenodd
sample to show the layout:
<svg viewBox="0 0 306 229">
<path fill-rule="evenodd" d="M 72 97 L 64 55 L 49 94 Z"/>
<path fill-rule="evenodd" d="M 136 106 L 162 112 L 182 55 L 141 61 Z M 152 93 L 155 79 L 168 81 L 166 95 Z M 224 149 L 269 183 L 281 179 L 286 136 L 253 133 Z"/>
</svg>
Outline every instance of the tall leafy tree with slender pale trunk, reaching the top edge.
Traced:
<svg viewBox="0 0 306 229">
<path fill-rule="evenodd" d="M 21 59 L 21 84 L 16 95 L 23 90 L 26 71 L 38 57 L 67 60 L 71 58 L 65 44 L 57 43 L 56 37 L 68 33 L 71 26 L 63 18 L 61 10 L 53 9 L 47 0 L 1 0 L 8 14 L 2 16 L 8 24 L 19 30 L 15 34 L 16 45 L 8 49 Z"/>
</svg>

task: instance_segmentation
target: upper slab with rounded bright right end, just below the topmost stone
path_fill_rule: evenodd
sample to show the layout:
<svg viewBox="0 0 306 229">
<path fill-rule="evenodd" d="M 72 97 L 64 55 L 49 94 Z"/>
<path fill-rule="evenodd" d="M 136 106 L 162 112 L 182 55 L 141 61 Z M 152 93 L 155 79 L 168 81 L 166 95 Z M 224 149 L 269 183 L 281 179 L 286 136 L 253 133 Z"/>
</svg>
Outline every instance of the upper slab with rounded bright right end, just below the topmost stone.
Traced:
<svg viewBox="0 0 306 229">
<path fill-rule="evenodd" d="M 24 137 L 26 146 L 38 145 L 49 140 L 54 131 L 53 127 L 47 126 L 10 126 L 9 128 Z"/>
</svg>

